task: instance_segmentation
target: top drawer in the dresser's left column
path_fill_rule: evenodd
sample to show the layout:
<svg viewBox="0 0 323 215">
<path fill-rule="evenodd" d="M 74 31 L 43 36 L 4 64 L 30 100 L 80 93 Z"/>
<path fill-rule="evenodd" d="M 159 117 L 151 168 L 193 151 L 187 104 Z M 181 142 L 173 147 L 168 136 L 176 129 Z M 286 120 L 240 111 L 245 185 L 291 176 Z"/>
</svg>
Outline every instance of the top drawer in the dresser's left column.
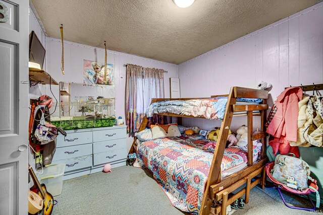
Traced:
<svg viewBox="0 0 323 215">
<path fill-rule="evenodd" d="M 89 144 L 90 142 L 92 142 L 92 131 L 67 133 L 65 138 L 63 134 L 57 136 L 57 148 Z"/>
</svg>

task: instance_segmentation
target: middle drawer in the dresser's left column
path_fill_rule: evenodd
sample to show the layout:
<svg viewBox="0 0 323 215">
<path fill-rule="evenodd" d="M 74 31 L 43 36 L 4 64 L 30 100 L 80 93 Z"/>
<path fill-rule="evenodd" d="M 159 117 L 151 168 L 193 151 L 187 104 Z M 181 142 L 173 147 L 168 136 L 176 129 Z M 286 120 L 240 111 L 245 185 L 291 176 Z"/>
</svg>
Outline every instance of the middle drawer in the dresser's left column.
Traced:
<svg viewBox="0 0 323 215">
<path fill-rule="evenodd" d="M 58 161 L 90 154 L 92 154 L 92 144 L 63 147 L 56 149 L 55 155 L 52 160 Z"/>
</svg>

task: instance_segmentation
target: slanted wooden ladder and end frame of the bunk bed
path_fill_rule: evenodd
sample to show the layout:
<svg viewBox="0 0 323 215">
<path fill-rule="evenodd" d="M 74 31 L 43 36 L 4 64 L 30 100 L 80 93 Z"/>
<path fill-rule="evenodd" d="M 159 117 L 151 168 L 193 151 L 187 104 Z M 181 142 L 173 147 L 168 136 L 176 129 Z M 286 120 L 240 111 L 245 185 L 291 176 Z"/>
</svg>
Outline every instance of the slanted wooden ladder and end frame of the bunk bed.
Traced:
<svg viewBox="0 0 323 215">
<path fill-rule="evenodd" d="M 262 103 L 259 105 L 236 105 L 237 98 L 261 98 Z M 218 143 L 216 145 L 216 149 L 214 150 L 213 160 L 210 167 L 210 172 L 208 175 L 208 179 L 206 182 L 206 187 L 201 203 L 200 214 L 208 215 L 211 209 L 211 204 L 213 199 L 219 200 L 222 199 L 222 205 L 217 206 L 216 214 L 221 211 L 222 214 L 226 214 L 226 206 L 230 205 L 234 199 L 239 198 L 243 194 L 245 195 L 245 201 L 248 203 L 249 201 L 249 192 L 250 189 L 256 186 L 259 182 L 261 182 L 262 188 L 264 188 L 264 168 L 258 168 L 264 166 L 266 160 L 265 146 L 266 146 L 266 134 L 264 128 L 264 120 L 266 117 L 266 110 L 268 109 L 268 105 L 266 104 L 266 100 L 268 98 L 268 92 L 261 90 L 251 90 L 241 87 L 232 87 L 230 90 L 230 94 L 228 95 L 227 108 L 225 111 L 224 119 L 220 128 L 220 135 L 218 137 Z M 261 159 L 262 161 L 254 165 L 254 171 L 250 174 L 246 174 L 239 181 L 227 182 L 228 186 L 223 190 L 223 186 L 218 187 L 221 182 L 221 163 L 224 155 L 224 150 L 229 134 L 229 128 L 232 122 L 232 117 L 234 112 L 239 111 L 247 111 L 247 127 L 248 127 L 248 156 L 247 156 L 247 164 L 249 167 L 253 166 L 253 140 L 262 139 L 262 149 L 261 149 Z M 260 111 L 261 116 L 261 130 L 260 133 L 253 134 L 253 115 L 255 114 L 253 111 Z M 219 159 L 220 158 L 220 159 Z M 252 168 L 252 167 L 251 167 Z M 258 174 L 262 173 L 261 178 L 257 178 L 255 181 L 251 182 L 251 179 L 256 177 Z M 241 185 L 246 183 L 246 188 L 240 190 L 230 199 L 228 199 L 228 194 Z M 214 197 L 214 190 L 218 190 L 219 192 Z M 222 191 L 221 191 L 222 190 Z"/>
</svg>

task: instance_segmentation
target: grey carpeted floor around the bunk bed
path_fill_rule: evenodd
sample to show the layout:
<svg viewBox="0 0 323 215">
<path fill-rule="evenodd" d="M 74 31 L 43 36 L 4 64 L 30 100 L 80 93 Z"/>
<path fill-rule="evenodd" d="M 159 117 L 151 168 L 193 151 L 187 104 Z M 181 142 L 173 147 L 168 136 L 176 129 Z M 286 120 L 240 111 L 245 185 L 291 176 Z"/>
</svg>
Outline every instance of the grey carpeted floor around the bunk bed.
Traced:
<svg viewBox="0 0 323 215">
<path fill-rule="evenodd" d="M 294 205 L 307 204 L 304 198 L 285 196 Z M 58 204 L 52 214 L 185 214 L 172 206 L 150 173 L 129 166 L 115 168 L 111 173 L 99 172 L 66 180 L 62 194 L 54 198 Z M 277 190 L 255 187 L 250 191 L 245 208 L 232 210 L 230 214 L 295 215 L 310 212 L 286 207 Z"/>
</svg>

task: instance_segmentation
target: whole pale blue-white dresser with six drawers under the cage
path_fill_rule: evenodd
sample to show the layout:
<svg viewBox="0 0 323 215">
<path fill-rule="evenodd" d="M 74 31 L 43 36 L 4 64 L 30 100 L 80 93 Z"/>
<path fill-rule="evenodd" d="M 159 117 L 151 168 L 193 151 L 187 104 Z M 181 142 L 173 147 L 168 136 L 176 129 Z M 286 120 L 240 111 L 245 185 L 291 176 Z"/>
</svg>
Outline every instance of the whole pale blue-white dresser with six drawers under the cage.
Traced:
<svg viewBox="0 0 323 215">
<path fill-rule="evenodd" d="M 65 164 L 63 179 L 102 171 L 109 163 L 112 168 L 126 165 L 126 126 L 67 130 L 57 137 L 52 164 Z"/>
</svg>

